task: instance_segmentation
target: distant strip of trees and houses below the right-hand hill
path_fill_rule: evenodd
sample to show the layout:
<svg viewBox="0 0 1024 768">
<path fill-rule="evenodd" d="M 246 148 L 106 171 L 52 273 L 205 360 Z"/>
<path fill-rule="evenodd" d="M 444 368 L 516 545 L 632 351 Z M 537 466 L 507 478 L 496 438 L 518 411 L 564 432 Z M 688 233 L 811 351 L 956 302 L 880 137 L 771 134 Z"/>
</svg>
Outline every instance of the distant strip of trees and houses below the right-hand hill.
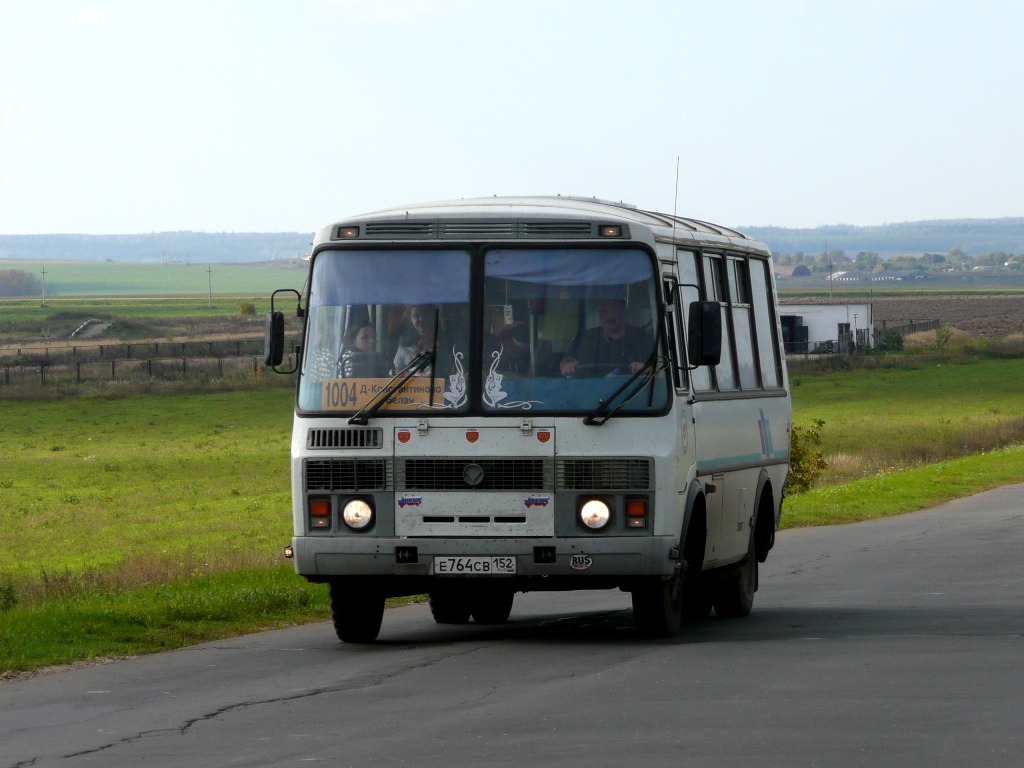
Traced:
<svg viewBox="0 0 1024 768">
<path fill-rule="evenodd" d="M 952 248 L 948 253 L 903 254 L 883 258 L 873 251 L 860 251 L 849 256 L 840 248 L 830 248 L 815 254 L 797 252 L 776 255 L 775 263 L 784 266 L 806 266 L 811 272 L 827 274 L 829 271 L 882 272 L 970 272 L 976 270 L 1024 271 L 1024 254 L 1002 251 L 978 256 Z"/>
</svg>

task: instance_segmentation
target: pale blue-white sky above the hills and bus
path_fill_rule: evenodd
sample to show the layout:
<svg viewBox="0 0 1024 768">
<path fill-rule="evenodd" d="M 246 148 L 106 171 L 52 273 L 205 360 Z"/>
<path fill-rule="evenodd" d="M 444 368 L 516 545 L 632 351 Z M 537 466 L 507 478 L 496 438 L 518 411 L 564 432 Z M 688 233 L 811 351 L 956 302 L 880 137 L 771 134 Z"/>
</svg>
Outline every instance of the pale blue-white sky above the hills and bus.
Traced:
<svg viewBox="0 0 1024 768">
<path fill-rule="evenodd" d="M 0 0 L 0 234 L 1024 216 L 1022 39 L 1020 0 Z"/>
</svg>

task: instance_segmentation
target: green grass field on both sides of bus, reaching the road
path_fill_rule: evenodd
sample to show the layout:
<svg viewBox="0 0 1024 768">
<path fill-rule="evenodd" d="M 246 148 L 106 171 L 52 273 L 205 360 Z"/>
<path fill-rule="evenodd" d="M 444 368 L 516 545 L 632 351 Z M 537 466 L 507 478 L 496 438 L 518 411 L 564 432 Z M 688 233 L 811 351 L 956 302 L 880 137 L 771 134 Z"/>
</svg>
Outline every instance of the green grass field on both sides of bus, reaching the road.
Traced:
<svg viewBox="0 0 1024 768">
<path fill-rule="evenodd" d="M 783 524 L 849 522 L 1024 481 L 1024 361 L 803 370 L 797 423 L 842 469 Z M 292 392 L 0 400 L 0 672 L 327 617 L 281 560 Z M 941 445 L 941 451 L 935 446 Z"/>
</svg>

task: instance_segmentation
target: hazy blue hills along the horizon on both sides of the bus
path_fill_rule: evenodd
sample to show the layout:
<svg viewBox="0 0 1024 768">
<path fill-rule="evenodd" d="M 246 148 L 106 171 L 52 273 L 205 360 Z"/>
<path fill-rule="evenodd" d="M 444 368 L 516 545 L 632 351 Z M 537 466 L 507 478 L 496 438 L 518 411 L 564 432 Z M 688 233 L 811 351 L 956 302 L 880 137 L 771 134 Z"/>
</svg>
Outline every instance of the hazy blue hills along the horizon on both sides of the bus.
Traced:
<svg viewBox="0 0 1024 768">
<path fill-rule="evenodd" d="M 837 224 L 813 229 L 739 226 L 778 255 L 840 249 L 880 256 L 1024 254 L 1024 217 L 908 221 L 881 226 Z M 0 260 L 92 260 L 216 264 L 295 259 L 309 251 L 312 232 L 153 232 L 150 234 L 0 234 Z"/>
</svg>

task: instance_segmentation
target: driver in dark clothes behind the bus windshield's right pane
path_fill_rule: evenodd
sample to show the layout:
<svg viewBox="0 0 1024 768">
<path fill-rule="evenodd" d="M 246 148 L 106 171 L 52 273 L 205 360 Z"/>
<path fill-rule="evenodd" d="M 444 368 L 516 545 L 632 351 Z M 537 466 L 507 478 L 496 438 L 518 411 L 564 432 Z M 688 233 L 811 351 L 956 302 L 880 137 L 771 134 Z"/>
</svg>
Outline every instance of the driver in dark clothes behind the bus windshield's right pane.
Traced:
<svg viewBox="0 0 1024 768">
<path fill-rule="evenodd" d="M 598 328 L 584 331 L 572 351 L 559 362 L 562 376 L 572 376 L 577 368 L 600 369 L 593 375 L 636 373 L 650 355 L 650 333 L 626 324 L 626 302 L 602 299 L 597 304 Z M 581 371 L 581 373 L 583 373 Z"/>
</svg>

